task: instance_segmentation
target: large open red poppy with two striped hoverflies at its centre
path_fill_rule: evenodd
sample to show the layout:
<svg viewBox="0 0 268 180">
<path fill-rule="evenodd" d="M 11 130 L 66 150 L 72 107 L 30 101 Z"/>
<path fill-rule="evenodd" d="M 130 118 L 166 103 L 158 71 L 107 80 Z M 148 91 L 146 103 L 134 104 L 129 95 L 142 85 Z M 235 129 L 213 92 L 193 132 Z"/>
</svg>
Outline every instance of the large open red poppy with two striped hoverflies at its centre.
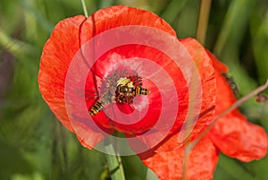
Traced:
<svg viewBox="0 0 268 180">
<path fill-rule="evenodd" d="M 55 26 L 41 56 L 39 89 L 89 149 L 114 130 L 138 136 L 150 149 L 180 131 L 186 119 L 195 119 L 193 138 L 211 121 L 214 68 L 200 53 L 193 61 L 172 27 L 154 13 L 113 6 Z"/>
</svg>

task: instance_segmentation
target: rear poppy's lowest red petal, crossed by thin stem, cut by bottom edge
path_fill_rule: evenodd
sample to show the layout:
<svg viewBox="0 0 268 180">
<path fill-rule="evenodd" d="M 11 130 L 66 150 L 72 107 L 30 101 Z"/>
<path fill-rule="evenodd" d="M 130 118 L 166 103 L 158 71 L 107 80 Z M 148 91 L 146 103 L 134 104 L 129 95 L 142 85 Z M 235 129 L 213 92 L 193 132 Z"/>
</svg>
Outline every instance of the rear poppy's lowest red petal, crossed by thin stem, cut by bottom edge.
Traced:
<svg viewBox="0 0 268 180">
<path fill-rule="evenodd" d="M 175 136 L 173 138 L 175 138 Z M 150 158 L 143 157 L 142 155 L 139 156 L 144 164 L 151 168 L 160 179 L 182 179 L 182 160 L 185 146 L 180 147 L 179 144 L 174 143 L 174 141 L 166 141 L 163 146 L 172 147 L 172 150 L 158 150 L 155 155 Z M 218 150 L 207 136 L 202 139 L 189 154 L 186 179 L 212 179 L 218 160 L 218 154 Z"/>
</svg>

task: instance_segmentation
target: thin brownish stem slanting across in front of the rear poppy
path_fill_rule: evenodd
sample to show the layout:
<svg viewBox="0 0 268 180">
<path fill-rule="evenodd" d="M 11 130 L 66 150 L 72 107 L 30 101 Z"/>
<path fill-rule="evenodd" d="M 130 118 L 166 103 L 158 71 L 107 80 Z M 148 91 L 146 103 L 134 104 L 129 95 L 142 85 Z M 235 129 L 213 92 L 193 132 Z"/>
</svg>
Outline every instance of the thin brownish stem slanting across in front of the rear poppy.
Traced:
<svg viewBox="0 0 268 180">
<path fill-rule="evenodd" d="M 219 116 L 216 116 L 214 118 L 214 121 L 212 124 L 209 124 L 207 126 L 207 128 L 205 129 L 205 131 L 203 133 L 201 133 L 197 139 L 195 139 L 192 142 L 188 142 L 186 143 L 186 147 L 185 147 L 185 153 L 184 153 L 184 159 L 183 159 L 183 164 L 182 164 L 182 179 L 186 179 L 186 173 L 187 173 L 187 159 L 189 156 L 189 153 L 191 150 L 193 150 L 197 143 L 199 141 L 201 141 L 205 135 L 214 127 L 214 124 L 217 123 L 217 121 L 222 118 L 223 116 L 226 116 L 227 114 L 229 114 L 232 110 L 238 108 L 239 106 L 241 106 L 245 101 L 247 101 L 248 99 L 251 99 L 252 97 L 256 96 L 257 94 L 259 94 L 260 92 L 266 90 L 268 88 L 268 79 L 266 80 L 265 84 L 258 87 L 257 89 L 249 92 L 246 96 L 244 96 L 243 98 L 239 99 L 238 101 L 236 101 L 232 106 L 230 106 L 229 108 L 227 108 L 226 110 L 224 110 L 222 112 L 222 114 L 220 114 Z"/>
</svg>

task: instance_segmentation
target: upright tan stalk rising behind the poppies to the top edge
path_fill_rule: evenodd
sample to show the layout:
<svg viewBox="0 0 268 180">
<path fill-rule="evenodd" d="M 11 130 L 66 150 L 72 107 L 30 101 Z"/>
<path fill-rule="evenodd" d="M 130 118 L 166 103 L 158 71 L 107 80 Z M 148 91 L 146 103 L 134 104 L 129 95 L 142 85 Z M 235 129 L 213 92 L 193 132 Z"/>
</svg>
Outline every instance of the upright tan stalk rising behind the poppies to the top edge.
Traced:
<svg viewBox="0 0 268 180">
<path fill-rule="evenodd" d="M 199 16 L 197 24 L 197 40 L 205 45 L 205 37 L 207 24 L 209 20 L 209 13 L 211 7 L 211 0 L 201 0 L 199 7 Z"/>
</svg>

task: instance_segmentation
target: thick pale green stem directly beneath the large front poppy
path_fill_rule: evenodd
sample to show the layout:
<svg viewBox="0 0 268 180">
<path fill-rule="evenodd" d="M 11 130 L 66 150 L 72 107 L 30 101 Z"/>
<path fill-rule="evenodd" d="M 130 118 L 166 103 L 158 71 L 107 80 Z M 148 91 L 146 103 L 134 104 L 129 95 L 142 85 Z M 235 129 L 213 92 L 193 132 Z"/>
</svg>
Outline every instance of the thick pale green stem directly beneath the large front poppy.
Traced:
<svg viewBox="0 0 268 180">
<path fill-rule="evenodd" d="M 114 156 L 111 154 L 115 154 L 113 150 L 113 145 L 108 144 L 105 146 L 108 154 L 106 155 L 106 159 L 108 162 L 109 172 L 113 180 L 125 180 L 124 170 L 121 163 L 120 156 Z"/>
</svg>

